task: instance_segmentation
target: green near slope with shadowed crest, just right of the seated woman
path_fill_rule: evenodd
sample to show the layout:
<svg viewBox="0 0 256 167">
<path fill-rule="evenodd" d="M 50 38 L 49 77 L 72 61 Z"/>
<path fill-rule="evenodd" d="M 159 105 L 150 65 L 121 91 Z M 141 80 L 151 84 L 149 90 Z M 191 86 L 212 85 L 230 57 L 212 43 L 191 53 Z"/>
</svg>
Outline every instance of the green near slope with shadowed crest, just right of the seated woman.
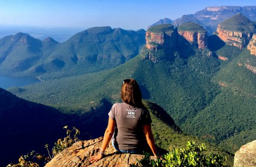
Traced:
<svg viewBox="0 0 256 167">
<path fill-rule="evenodd" d="M 204 142 L 207 147 L 204 154 L 218 154 L 223 157 L 225 156 L 227 158 L 226 164 L 228 166 L 233 166 L 233 156 L 227 154 L 221 147 L 217 147 L 213 143 L 207 142 L 207 138 L 198 138 L 193 135 L 184 134 L 163 108 L 147 100 L 144 100 L 143 104 L 150 112 L 152 119 L 151 127 L 157 147 L 169 152 L 174 149 L 186 148 L 187 141 L 195 141 L 196 143 Z"/>
</svg>

